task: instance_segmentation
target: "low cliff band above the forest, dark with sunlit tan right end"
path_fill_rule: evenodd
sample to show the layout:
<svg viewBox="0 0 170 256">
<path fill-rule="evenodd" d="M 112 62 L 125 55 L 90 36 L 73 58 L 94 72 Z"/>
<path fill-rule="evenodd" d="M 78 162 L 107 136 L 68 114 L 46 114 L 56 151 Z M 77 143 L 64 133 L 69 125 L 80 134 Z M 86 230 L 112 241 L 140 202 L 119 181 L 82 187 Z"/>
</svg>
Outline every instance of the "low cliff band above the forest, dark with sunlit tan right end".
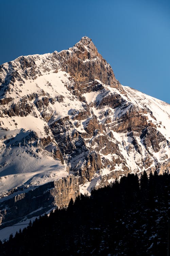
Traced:
<svg viewBox="0 0 170 256">
<path fill-rule="evenodd" d="M 10 199 L 4 198 L 6 200 L 0 202 L 0 209 L 3 209 L 0 211 L 0 222 L 5 227 L 21 221 L 23 217 L 43 214 L 56 205 L 68 206 L 70 199 L 75 200 L 79 194 L 78 177 L 68 175 Z"/>
</svg>

